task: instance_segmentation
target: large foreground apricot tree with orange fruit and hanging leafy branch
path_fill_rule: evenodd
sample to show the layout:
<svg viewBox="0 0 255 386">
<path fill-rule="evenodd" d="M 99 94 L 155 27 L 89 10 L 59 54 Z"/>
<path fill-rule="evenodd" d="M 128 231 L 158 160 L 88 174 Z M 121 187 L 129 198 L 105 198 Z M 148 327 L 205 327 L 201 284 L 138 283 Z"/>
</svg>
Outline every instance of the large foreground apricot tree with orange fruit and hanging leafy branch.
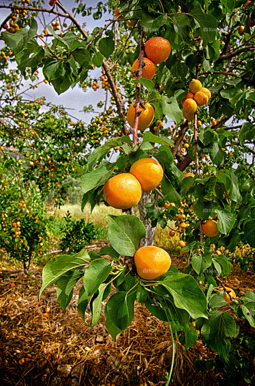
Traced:
<svg viewBox="0 0 255 386">
<path fill-rule="evenodd" d="M 18 3 L 0 5 L 10 9 L 3 66 L 11 50 L 23 76 L 42 68 L 59 94 L 77 83 L 97 92 L 101 82 L 104 111 L 91 120 L 86 138 L 81 128 L 78 145 L 94 148 L 81 176 L 81 208 L 89 202 L 92 212 L 104 200 L 124 213 L 108 215 L 109 247 L 46 264 L 40 294 L 56 282 L 65 309 L 83 279 L 79 315 L 85 319 L 90 302 L 95 325 L 108 299 L 105 325 L 114 340 L 132 322 L 135 300 L 167 323 L 173 347 L 174 336 L 186 349 L 196 341 L 191 317 L 204 343 L 227 362 L 230 339 L 239 332 L 232 315 L 255 327 L 255 294 L 241 296 L 224 280 L 232 269 L 228 253 L 255 247 L 253 2 L 108 2 L 108 24 L 91 33 L 58 0 L 52 8 Z M 98 3 L 94 19 L 105 11 Z M 91 9 L 80 4 L 74 12 L 85 16 Z M 38 27 L 41 13 L 52 22 Z M 10 27 L 17 14 L 22 17 Z M 101 68 L 97 78 L 95 68 Z M 169 220 L 169 237 L 178 235 L 176 249 L 187 260 L 184 273 L 153 245 L 157 222 L 164 228 Z M 168 383 L 173 366 L 174 356 Z"/>
</svg>

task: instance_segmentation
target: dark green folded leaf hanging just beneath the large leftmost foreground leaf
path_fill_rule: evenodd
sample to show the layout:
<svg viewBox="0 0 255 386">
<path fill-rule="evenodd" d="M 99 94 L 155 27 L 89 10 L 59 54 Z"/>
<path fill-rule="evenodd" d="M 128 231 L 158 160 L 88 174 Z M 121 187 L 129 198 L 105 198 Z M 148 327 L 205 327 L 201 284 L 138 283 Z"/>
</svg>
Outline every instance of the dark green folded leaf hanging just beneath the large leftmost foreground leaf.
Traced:
<svg viewBox="0 0 255 386">
<path fill-rule="evenodd" d="M 78 280 L 84 275 L 81 269 L 74 269 L 68 274 L 61 276 L 57 281 L 57 301 L 60 301 L 62 310 L 65 310 L 73 297 L 73 288 Z"/>
</svg>

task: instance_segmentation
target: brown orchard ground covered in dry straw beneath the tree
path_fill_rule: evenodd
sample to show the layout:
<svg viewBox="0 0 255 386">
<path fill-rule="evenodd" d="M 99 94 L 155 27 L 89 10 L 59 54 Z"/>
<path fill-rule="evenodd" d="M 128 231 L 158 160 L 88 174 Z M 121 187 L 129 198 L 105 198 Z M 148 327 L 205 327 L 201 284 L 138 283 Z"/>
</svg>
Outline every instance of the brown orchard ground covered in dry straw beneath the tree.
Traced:
<svg viewBox="0 0 255 386">
<path fill-rule="evenodd" d="M 96 251 L 104 242 L 95 242 Z M 182 271 L 184 259 L 171 256 L 172 264 Z M 72 305 L 62 312 L 56 299 L 56 286 L 42 294 L 39 303 L 42 267 L 25 275 L 17 268 L 0 271 L 0 384 L 13 386 L 125 386 L 164 385 L 172 359 L 171 336 L 164 322 L 153 317 L 138 303 L 130 327 L 114 343 L 104 327 L 104 314 L 90 328 L 78 316 L 78 285 Z M 228 284 L 240 293 L 255 291 L 251 267 L 243 273 L 235 267 Z M 15 283 L 15 286 L 11 286 Z M 49 306 L 49 318 L 44 316 Z M 102 307 L 104 308 L 104 307 Z M 91 313 L 86 312 L 89 323 Z M 240 331 L 255 339 L 254 330 L 241 322 Z M 251 335 L 252 334 L 252 335 Z M 187 352 L 178 345 L 175 385 L 216 386 L 216 374 L 196 372 L 194 359 L 211 359 L 215 353 L 201 339 Z M 24 363 L 20 363 L 24 359 Z M 251 370 L 253 358 L 249 358 Z M 220 375 L 220 374 L 218 374 Z M 252 381 L 255 381 L 253 374 Z M 247 385 L 244 381 L 239 386 Z"/>
</svg>

